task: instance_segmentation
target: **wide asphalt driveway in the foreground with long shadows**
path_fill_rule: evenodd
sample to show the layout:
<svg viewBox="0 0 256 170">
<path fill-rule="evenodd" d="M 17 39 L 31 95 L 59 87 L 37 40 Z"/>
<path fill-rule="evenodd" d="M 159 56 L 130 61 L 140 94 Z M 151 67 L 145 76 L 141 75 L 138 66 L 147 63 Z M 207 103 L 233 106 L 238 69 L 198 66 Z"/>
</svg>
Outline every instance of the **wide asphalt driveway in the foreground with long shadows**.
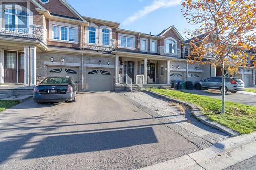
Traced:
<svg viewBox="0 0 256 170">
<path fill-rule="evenodd" d="M 118 93 L 0 113 L 0 169 L 137 169 L 198 150 Z"/>
</svg>

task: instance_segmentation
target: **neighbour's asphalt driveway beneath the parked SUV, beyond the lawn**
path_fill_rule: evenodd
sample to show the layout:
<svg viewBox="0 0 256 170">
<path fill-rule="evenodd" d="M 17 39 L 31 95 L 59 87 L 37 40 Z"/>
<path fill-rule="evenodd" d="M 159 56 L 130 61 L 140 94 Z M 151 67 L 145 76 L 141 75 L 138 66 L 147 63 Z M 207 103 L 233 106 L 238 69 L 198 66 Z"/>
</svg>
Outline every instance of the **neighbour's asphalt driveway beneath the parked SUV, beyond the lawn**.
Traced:
<svg viewBox="0 0 256 170">
<path fill-rule="evenodd" d="M 220 93 L 220 90 L 183 90 L 183 91 L 192 93 L 192 94 L 208 96 L 211 98 L 217 98 L 217 99 L 222 98 L 222 94 Z M 255 94 L 254 93 L 246 94 L 243 92 L 237 92 L 236 94 L 232 94 L 232 93 L 228 92 L 225 95 L 225 97 L 226 97 L 226 101 L 256 106 L 256 93 Z"/>
</svg>

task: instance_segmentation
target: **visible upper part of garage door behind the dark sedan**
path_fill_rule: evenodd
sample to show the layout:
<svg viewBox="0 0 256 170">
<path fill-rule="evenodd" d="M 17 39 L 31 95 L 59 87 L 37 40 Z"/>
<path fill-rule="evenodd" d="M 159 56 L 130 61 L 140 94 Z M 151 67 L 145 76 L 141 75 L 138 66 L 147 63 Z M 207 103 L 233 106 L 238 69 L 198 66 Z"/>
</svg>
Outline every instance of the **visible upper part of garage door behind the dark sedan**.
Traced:
<svg viewBox="0 0 256 170">
<path fill-rule="evenodd" d="M 70 76 L 78 81 L 78 67 L 47 66 L 47 76 Z"/>
</svg>

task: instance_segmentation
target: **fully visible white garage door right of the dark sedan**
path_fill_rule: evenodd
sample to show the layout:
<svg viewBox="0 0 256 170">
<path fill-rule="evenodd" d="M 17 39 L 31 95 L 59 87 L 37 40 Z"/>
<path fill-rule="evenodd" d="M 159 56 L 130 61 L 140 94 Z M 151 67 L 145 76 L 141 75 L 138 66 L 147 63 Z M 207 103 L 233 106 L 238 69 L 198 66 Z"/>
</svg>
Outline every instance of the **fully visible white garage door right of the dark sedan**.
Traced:
<svg viewBox="0 0 256 170">
<path fill-rule="evenodd" d="M 111 91 L 113 90 L 112 69 L 90 68 L 86 69 L 86 90 Z"/>
</svg>

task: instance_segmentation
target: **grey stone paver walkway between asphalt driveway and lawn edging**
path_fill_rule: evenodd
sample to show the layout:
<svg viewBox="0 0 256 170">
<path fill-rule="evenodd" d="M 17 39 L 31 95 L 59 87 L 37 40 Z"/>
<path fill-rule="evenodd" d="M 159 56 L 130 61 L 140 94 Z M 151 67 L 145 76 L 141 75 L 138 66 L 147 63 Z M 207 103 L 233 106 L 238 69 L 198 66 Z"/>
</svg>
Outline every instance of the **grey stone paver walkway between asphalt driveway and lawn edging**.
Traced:
<svg viewBox="0 0 256 170">
<path fill-rule="evenodd" d="M 144 111 L 148 110 L 151 116 L 164 116 L 165 118 L 161 119 L 161 122 L 175 122 L 175 124 L 167 124 L 166 126 L 201 149 L 230 137 L 217 129 L 200 123 L 191 116 L 189 109 L 186 109 L 186 113 L 183 114 L 176 106 L 170 106 L 168 101 L 163 101 L 155 95 L 144 92 L 123 94 L 131 100 L 130 102 L 135 101 L 134 104 L 138 105 L 137 107 L 142 107 Z"/>
</svg>

